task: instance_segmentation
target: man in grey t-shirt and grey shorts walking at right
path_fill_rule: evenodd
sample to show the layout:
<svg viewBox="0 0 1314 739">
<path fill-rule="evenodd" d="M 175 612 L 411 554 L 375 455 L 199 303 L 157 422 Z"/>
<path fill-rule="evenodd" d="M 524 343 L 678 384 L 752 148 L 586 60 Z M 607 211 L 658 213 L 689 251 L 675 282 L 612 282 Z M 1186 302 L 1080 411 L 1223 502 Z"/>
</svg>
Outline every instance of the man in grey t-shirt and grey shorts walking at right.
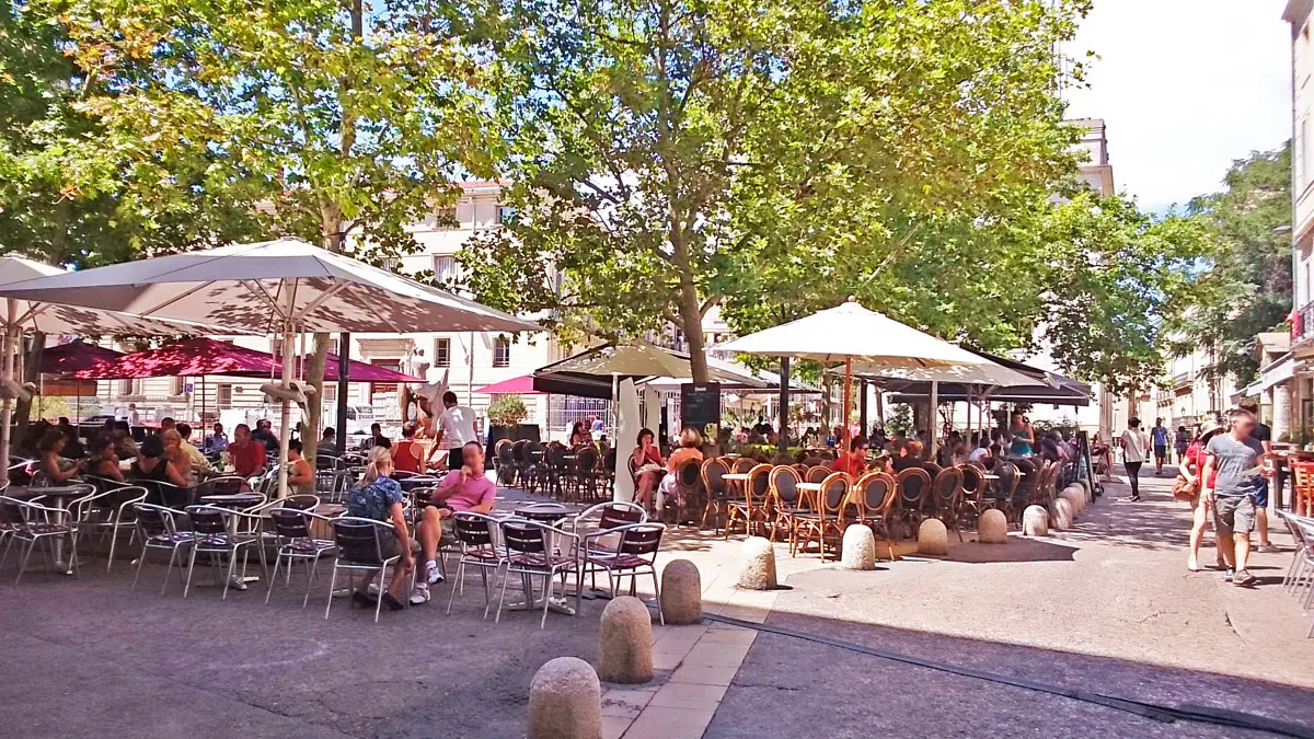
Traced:
<svg viewBox="0 0 1314 739">
<path fill-rule="evenodd" d="M 1205 444 L 1205 468 L 1200 475 L 1204 496 L 1213 496 L 1214 533 L 1227 560 L 1234 585 L 1250 585 L 1255 576 L 1250 560 L 1250 531 L 1255 527 L 1255 496 L 1272 469 L 1264 465 L 1264 446 L 1251 438 L 1255 416 L 1236 409 L 1227 414 L 1229 430 Z M 1214 475 L 1217 472 L 1217 476 Z"/>
</svg>

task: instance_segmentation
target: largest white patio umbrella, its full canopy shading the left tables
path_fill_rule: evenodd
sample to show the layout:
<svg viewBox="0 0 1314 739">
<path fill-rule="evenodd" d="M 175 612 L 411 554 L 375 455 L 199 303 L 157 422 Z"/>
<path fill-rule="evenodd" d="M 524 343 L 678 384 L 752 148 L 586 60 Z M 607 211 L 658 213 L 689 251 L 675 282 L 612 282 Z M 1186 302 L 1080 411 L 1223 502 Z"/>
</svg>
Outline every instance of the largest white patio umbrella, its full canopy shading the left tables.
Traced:
<svg viewBox="0 0 1314 739">
<path fill-rule="evenodd" d="M 332 254 L 277 239 L 156 256 L 0 285 L 0 297 L 275 333 L 292 355 L 296 333 L 539 331 L 452 293 Z M 280 454 L 286 458 L 293 362 L 283 364 Z M 286 465 L 279 465 L 286 494 Z"/>
</svg>

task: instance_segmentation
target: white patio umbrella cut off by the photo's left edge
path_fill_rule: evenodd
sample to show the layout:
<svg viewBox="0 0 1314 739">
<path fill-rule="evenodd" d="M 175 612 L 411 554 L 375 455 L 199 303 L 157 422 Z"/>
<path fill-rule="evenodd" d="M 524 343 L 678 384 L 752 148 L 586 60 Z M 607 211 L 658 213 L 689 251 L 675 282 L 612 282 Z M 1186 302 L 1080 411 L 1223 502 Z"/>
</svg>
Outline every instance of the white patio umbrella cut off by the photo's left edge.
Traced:
<svg viewBox="0 0 1314 739">
<path fill-rule="evenodd" d="M 0 256 L 0 287 L 67 274 L 60 267 L 45 264 L 22 256 Z M 0 410 L 0 483 L 9 479 L 9 423 L 13 421 L 14 396 L 20 388 L 14 383 L 14 342 L 25 331 L 41 331 L 47 335 L 133 335 L 133 337 L 200 337 L 215 333 L 212 326 L 189 321 L 160 321 L 143 318 L 117 310 L 99 310 L 55 305 L 42 300 L 0 298 L 0 327 L 4 338 L 0 351 L 4 352 L 0 383 L 4 401 Z"/>
</svg>

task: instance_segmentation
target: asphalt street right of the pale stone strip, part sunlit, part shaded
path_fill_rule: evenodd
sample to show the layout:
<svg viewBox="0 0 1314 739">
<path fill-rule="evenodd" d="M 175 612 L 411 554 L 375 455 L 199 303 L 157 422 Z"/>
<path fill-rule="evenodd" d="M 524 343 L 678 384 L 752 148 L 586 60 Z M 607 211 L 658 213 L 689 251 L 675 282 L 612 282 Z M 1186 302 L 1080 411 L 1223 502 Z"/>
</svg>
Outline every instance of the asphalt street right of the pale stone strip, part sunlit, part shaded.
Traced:
<svg viewBox="0 0 1314 739">
<path fill-rule="evenodd" d="M 1189 514 L 1168 484 L 1147 476 L 1147 502 L 1106 496 L 1047 540 L 955 542 L 943 560 L 792 575 L 766 623 L 1109 696 L 1314 726 L 1314 639 L 1305 639 L 1309 621 L 1280 585 L 1290 555 L 1257 555 L 1260 584 L 1251 589 L 1215 572 L 1188 573 Z M 1289 544 L 1285 533 L 1273 540 Z M 1156 723 L 762 632 L 704 736 L 813 735 L 821 726 L 833 738 L 1267 735 Z"/>
</svg>

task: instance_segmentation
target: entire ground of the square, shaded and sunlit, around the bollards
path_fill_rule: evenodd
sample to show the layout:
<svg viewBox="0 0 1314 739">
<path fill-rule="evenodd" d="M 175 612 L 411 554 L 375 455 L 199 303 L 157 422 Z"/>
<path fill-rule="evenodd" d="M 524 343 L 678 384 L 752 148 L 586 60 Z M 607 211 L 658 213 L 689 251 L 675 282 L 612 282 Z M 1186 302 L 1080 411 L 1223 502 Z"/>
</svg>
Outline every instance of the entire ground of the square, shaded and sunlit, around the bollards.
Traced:
<svg viewBox="0 0 1314 739">
<path fill-rule="evenodd" d="M 882 561 L 875 572 L 791 559 L 779 546 L 788 589 L 767 593 L 733 586 L 741 538 L 679 531 L 665 548 L 699 565 L 708 614 L 1112 696 L 1314 725 L 1314 639 L 1277 584 L 1290 555 L 1259 555 L 1254 589 L 1187 573 L 1184 506 L 1168 498 L 1167 479 L 1146 477 L 1142 488 L 1147 502 L 1105 498 L 1050 539 L 954 540 L 949 558 Z M 1285 535 L 1275 542 L 1289 544 Z M 1212 559 L 1209 550 L 1204 560 Z M 137 592 L 126 568 L 81 581 L 35 575 L 18 588 L 4 579 L 0 735 L 523 736 L 533 672 L 561 655 L 597 659 L 602 601 L 586 601 L 578 619 L 549 615 L 540 631 L 523 613 L 482 621 L 477 586 L 447 617 L 443 586 L 435 602 L 374 625 L 372 611 L 342 601 L 325 621 L 318 586 L 302 610 L 296 580 L 268 608 L 263 590 L 219 601 L 204 588 L 184 601 L 173 585 L 159 597 L 162 569 L 148 568 Z M 745 639 L 746 657 L 682 651 L 703 631 L 654 635 L 666 677 L 690 667 L 708 676 L 646 686 L 649 697 L 633 707 L 611 693 L 607 736 L 698 736 L 708 721 L 711 738 L 1265 736 L 1160 725 L 770 632 Z M 720 661 L 729 657 L 742 659 L 737 672 Z"/>
</svg>

